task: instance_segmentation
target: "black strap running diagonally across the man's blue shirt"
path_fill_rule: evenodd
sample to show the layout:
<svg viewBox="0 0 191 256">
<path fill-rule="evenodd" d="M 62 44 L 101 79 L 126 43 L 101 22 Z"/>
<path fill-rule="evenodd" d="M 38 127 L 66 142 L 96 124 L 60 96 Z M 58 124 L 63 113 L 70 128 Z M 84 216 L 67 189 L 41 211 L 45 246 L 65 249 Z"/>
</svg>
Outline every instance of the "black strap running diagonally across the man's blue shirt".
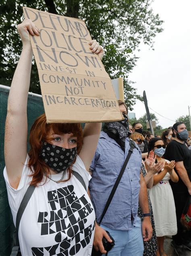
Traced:
<svg viewBox="0 0 191 256">
<path fill-rule="evenodd" d="M 125 171 L 125 168 L 126 168 L 126 166 L 127 166 L 127 163 L 129 162 L 129 159 L 130 159 L 130 157 L 131 157 L 131 154 L 133 153 L 133 148 L 135 148 L 134 142 L 133 142 L 133 140 L 131 140 L 131 139 L 129 140 L 129 145 L 130 145 L 129 152 L 128 152 L 127 157 L 126 157 L 126 159 L 125 159 L 125 162 L 124 162 L 124 164 L 123 164 L 123 166 L 122 166 L 122 168 L 121 168 L 121 170 L 120 170 L 120 173 L 119 173 L 119 175 L 118 175 L 118 177 L 117 177 L 117 179 L 116 179 L 116 182 L 115 182 L 115 184 L 114 184 L 114 186 L 113 186 L 113 188 L 112 188 L 112 191 L 111 191 L 111 193 L 110 193 L 110 196 L 108 197 L 108 201 L 106 202 L 106 205 L 105 205 L 105 207 L 104 207 L 104 211 L 103 211 L 103 213 L 102 213 L 102 216 L 101 216 L 101 218 L 100 218 L 100 222 L 98 223 L 98 225 L 100 225 L 100 223 L 102 222 L 102 220 L 103 220 L 103 218 L 104 218 L 104 216 L 105 216 L 105 214 L 106 214 L 106 212 L 107 212 L 107 209 L 108 209 L 108 207 L 109 207 L 109 205 L 110 205 L 110 203 L 111 203 L 111 201 L 112 201 L 112 198 L 113 198 L 113 196 L 114 196 L 114 194 L 115 194 L 115 191 L 116 191 L 116 189 L 117 189 L 117 187 L 118 187 L 118 184 L 119 184 L 119 182 L 120 182 L 120 180 L 121 180 L 121 178 L 122 178 L 122 175 L 123 175 L 123 173 L 124 173 L 124 171 Z"/>
</svg>

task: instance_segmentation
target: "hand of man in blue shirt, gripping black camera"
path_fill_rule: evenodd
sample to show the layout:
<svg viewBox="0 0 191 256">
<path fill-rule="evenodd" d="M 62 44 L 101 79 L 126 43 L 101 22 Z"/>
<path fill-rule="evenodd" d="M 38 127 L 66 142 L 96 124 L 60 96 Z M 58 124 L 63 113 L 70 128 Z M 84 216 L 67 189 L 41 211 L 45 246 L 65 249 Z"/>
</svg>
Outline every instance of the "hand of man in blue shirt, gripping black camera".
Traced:
<svg viewBox="0 0 191 256">
<path fill-rule="evenodd" d="M 105 237 L 108 242 L 112 242 L 112 239 L 110 239 L 110 237 L 108 236 L 107 232 L 100 227 L 97 223 L 96 223 L 96 227 L 95 227 L 95 235 L 94 235 L 94 239 L 93 239 L 93 246 L 96 249 L 96 251 L 99 251 L 101 253 L 107 253 L 106 250 L 104 250 L 104 245 L 102 243 L 102 238 Z"/>
</svg>

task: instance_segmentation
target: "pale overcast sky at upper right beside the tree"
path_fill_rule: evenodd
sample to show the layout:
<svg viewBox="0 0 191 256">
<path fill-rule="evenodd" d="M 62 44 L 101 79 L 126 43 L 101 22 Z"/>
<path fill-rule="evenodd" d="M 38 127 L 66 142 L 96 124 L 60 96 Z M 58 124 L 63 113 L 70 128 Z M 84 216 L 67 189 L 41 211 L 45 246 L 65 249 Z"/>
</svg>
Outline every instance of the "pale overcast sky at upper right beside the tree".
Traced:
<svg viewBox="0 0 191 256">
<path fill-rule="evenodd" d="M 146 91 L 150 108 L 175 121 L 187 115 L 191 106 L 191 1 L 154 0 L 152 8 L 164 20 L 164 31 L 154 39 L 154 51 L 141 44 L 140 58 L 129 78 L 136 82 L 137 93 Z M 143 103 L 137 100 L 132 112 L 136 118 L 145 114 Z M 156 116 L 163 128 L 175 123 Z"/>
</svg>

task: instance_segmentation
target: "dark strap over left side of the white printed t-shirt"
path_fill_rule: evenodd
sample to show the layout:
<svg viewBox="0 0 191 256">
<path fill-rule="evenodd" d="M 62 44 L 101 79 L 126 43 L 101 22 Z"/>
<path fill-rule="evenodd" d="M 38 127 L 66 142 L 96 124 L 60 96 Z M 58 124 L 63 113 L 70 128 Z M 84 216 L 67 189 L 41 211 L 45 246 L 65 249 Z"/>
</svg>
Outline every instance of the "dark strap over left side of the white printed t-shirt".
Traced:
<svg viewBox="0 0 191 256">
<path fill-rule="evenodd" d="M 33 194 L 35 190 L 35 186 L 29 186 L 27 188 L 27 191 L 23 197 L 23 200 L 21 201 L 21 204 L 19 206 L 18 212 L 17 212 L 17 218 L 16 218 L 16 246 L 12 248 L 12 252 L 10 256 L 17 256 L 18 250 L 19 250 L 19 224 L 21 221 L 21 217 L 23 216 L 23 212 L 25 211 L 25 208 L 31 198 L 31 195 Z"/>
</svg>

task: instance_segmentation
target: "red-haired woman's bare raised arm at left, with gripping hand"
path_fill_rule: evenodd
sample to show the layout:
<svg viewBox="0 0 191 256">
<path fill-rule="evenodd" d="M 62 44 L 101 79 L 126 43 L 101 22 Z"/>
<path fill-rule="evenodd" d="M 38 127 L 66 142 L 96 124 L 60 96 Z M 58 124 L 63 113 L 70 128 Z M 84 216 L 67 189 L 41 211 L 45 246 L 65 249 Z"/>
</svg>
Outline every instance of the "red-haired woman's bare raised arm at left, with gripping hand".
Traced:
<svg viewBox="0 0 191 256">
<path fill-rule="evenodd" d="M 31 20 L 17 26 L 23 50 L 12 79 L 8 96 L 5 125 L 4 156 L 10 185 L 17 188 L 27 156 L 27 98 L 30 85 L 33 52 L 29 33 L 39 35 Z"/>
</svg>

